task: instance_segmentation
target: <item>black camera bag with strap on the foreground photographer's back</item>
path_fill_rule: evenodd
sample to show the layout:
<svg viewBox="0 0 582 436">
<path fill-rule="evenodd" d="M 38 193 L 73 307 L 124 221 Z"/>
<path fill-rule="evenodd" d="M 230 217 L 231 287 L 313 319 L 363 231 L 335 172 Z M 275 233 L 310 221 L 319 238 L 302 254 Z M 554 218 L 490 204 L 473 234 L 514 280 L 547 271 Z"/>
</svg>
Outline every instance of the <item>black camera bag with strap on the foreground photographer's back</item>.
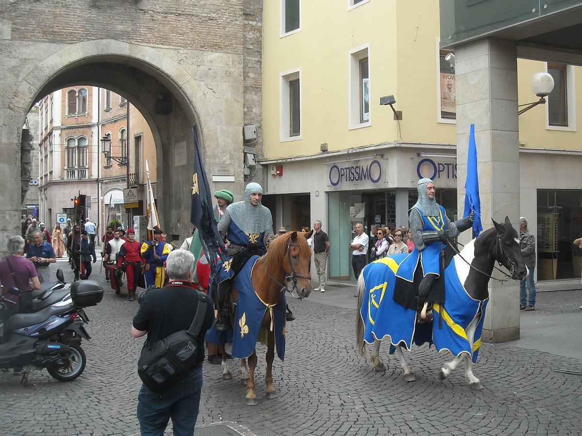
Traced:
<svg viewBox="0 0 582 436">
<path fill-rule="evenodd" d="M 161 394 L 169 385 L 191 369 L 198 355 L 196 337 L 206 315 L 208 296 L 198 293 L 196 316 L 188 330 L 172 333 L 151 348 L 146 341 L 137 362 L 137 374 L 152 391 Z"/>
</svg>

